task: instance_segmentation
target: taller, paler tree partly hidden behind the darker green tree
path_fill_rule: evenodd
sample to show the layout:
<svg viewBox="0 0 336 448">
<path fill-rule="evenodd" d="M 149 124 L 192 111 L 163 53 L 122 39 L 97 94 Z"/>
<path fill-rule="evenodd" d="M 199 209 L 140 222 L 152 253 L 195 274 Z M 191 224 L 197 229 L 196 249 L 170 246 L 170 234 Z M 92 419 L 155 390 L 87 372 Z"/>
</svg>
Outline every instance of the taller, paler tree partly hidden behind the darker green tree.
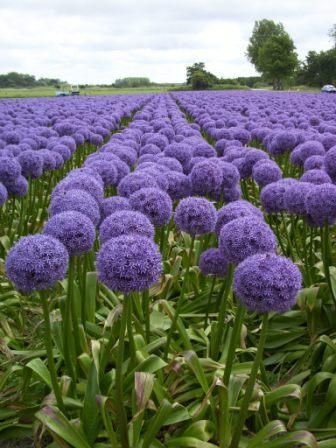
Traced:
<svg viewBox="0 0 336 448">
<path fill-rule="evenodd" d="M 254 22 L 252 36 L 247 47 L 247 58 L 258 72 L 262 72 L 259 64 L 259 50 L 272 36 L 281 36 L 285 33 L 282 23 L 262 19 Z"/>
</svg>

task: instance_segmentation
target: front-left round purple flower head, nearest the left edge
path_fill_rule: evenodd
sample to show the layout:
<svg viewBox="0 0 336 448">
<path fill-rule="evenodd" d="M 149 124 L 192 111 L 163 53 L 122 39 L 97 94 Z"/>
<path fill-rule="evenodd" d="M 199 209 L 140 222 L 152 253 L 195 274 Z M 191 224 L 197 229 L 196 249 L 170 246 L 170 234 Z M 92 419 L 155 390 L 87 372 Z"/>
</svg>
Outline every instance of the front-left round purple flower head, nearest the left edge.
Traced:
<svg viewBox="0 0 336 448">
<path fill-rule="evenodd" d="M 63 244 L 49 235 L 21 238 L 9 251 L 6 273 L 23 293 L 51 288 L 63 280 L 68 269 L 69 255 Z"/>
</svg>

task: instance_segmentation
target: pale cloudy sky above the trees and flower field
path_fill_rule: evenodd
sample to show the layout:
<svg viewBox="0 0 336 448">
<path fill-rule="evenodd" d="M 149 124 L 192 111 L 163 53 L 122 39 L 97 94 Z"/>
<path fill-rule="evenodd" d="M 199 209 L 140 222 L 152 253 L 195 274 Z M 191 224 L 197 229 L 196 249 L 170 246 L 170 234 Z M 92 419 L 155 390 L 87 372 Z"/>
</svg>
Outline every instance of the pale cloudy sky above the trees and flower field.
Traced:
<svg viewBox="0 0 336 448">
<path fill-rule="evenodd" d="M 334 13 L 332 0 L 0 0 L 0 73 L 183 82 L 204 61 L 218 76 L 248 76 L 255 20 L 281 21 L 304 58 L 330 48 Z"/>
</svg>

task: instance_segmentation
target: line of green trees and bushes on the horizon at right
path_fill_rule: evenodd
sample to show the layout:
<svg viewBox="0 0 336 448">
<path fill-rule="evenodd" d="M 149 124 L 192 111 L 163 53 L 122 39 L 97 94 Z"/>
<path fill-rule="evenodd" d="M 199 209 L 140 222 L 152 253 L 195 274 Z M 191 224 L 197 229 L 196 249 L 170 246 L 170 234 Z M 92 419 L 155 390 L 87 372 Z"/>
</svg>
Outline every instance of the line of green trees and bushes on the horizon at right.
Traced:
<svg viewBox="0 0 336 448">
<path fill-rule="evenodd" d="M 336 82 L 336 24 L 329 31 L 333 46 L 326 51 L 309 51 L 299 61 L 293 39 L 282 23 L 263 19 L 254 23 L 246 56 L 260 77 L 218 78 L 205 69 L 203 62 L 187 67 L 187 85 L 193 89 L 214 88 L 223 84 L 257 87 L 268 83 L 274 90 L 288 85 L 322 87 Z"/>
</svg>

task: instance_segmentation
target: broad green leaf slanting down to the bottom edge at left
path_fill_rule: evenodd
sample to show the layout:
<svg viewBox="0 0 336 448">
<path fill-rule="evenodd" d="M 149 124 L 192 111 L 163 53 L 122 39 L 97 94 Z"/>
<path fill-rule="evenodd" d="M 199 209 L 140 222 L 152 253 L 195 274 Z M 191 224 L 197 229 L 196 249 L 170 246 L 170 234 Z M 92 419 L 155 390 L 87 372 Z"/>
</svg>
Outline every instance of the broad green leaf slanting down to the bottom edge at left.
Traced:
<svg viewBox="0 0 336 448">
<path fill-rule="evenodd" d="M 62 412 L 52 406 L 46 406 L 36 413 L 36 418 L 51 432 L 65 440 L 74 448 L 91 448 L 85 435 Z"/>
</svg>

